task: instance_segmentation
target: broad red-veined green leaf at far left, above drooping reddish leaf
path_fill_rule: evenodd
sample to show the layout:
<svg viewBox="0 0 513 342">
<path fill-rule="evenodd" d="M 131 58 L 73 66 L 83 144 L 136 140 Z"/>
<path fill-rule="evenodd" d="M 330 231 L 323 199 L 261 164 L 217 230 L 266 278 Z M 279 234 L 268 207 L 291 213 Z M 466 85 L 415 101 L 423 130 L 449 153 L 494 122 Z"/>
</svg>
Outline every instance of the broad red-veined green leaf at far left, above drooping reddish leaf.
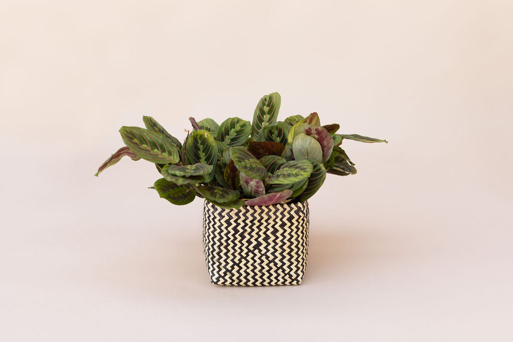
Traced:
<svg viewBox="0 0 513 342">
<path fill-rule="evenodd" d="M 180 154 L 171 140 L 161 133 L 141 127 L 123 126 L 120 129 L 125 145 L 140 158 L 155 164 L 180 162 Z"/>
</svg>

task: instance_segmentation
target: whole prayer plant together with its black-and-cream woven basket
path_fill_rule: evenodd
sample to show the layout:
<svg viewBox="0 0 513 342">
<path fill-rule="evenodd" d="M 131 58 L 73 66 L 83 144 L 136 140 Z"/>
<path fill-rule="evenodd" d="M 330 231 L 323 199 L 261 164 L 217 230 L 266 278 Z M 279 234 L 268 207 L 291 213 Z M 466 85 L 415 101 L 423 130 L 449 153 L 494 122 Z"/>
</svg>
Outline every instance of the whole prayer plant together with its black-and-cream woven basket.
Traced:
<svg viewBox="0 0 513 342">
<path fill-rule="evenodd" d="M 281 97 L 262 97 L 250 123 L 230 117 L 218 125 L 192 117 L 183 144 L 151 116 L 146 128 L 123 126 L 125 147 L 96 176 L 123 156 L 154 163 L 162 175 L 150 189 L 175 205 L 204 198 L 203 245 L 212 284 L 301 284 L 308 253 L 307 200 L 326 173 L 357 172 L 340 147 L 344 139 L 385 140 L 338 134 L 317 113 L 277 121 Z"/>
</svg>

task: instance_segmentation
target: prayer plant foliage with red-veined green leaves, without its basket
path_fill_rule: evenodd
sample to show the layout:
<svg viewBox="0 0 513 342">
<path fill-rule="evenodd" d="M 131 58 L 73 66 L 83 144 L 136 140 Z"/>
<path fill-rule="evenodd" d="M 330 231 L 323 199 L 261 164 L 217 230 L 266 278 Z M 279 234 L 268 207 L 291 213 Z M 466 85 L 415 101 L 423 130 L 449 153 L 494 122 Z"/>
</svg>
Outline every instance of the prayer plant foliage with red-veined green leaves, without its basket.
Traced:
<svg viewBox="0 0 513 342">
<path fill-rule="evenodd" d="M 317 113 L 277 121 L 281 97 L 262 97 L 253 122 L 230 117 L 221 125 L 192 117 L 184 143 L 151 116 L 146 128 L 123 126 L 125 147 L 103 163 L 96 176 L 127 155 L 154 163 L 162 178 L 151 189 L 172 204 L 191 203 L 196 196 L 223 208 L 304 202 L 321 188 L 326 173 L 347 176 L 356 168 L 340 147 L 344 139 L 364 143 L 386 140 L 358 134 L 337 134 L 340 126 L 321 126 Z"/>
</svg>

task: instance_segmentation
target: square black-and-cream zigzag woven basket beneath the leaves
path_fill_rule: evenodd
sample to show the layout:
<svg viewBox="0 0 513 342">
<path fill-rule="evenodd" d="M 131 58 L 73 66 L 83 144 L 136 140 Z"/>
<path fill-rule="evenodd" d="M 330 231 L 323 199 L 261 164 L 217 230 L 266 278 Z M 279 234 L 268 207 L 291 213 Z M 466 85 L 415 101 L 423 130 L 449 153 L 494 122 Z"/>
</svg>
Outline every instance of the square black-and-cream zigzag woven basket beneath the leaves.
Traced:
<svg viewBox="0 0 513 342">
<path fill-rule="evenodd" d="M 212 284 L 301 284 L 308 203 L 223 209 L 205 201 L 203 246 Z"/>
</svg>

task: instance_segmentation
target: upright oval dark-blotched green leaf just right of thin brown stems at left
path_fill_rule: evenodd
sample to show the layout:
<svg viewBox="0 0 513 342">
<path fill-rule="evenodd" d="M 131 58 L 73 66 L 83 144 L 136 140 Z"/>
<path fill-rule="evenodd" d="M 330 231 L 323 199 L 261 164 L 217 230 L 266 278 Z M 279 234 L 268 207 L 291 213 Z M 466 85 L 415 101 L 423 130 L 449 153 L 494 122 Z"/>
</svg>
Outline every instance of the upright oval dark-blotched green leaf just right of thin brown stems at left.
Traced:
<svg viewBox="0 0 513 342">
<path fill-rule="evenodd" d="M 194 131 L 187 139 L 185 154 L 191 164 L 215 165 L 218 153 L 214 137 L 207 130 Z"/>
</svg>

